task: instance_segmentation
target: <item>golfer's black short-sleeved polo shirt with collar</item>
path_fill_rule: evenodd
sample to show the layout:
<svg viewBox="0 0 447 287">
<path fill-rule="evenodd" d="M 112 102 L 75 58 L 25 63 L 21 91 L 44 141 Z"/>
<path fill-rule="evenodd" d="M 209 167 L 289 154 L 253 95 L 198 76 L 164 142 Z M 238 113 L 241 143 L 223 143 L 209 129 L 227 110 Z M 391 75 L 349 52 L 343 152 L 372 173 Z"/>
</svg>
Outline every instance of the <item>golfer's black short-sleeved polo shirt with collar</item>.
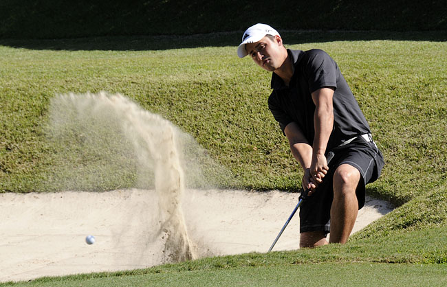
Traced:
<svg viewBox="0 0 447 287">
<path fill-rule="evenodd" d="M 273 91 L 268 99 L 270 111 L 279 122 L 283 133 L 287 124 L 296 122 L 309 144 L 312 145 L 315 135 L 315 104 L 312 93 L 324 87 L 335 89 L 334 128 L 327 143 L 327 151 L 347 139 L 371 133 L 369 124 L 360 111 L 358 102 L 338 69 L 338 65 L 325 51 L 287 49 L 287 52 L 294 63 L 294 73 L 289 87 L 276 73 L 273 73 Z"/>
</svg>

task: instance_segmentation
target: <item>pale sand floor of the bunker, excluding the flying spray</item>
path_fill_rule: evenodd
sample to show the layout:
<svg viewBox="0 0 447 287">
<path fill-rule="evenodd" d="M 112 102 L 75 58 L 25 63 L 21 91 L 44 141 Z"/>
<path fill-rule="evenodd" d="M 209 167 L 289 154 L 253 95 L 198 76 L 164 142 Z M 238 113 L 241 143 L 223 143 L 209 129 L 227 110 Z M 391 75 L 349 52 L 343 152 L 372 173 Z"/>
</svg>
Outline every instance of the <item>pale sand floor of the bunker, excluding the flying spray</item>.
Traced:
<svg viewBox="0 0 447 287">
<path fill-rule="evenodd" d="M 185 190 L 182 211 L 194 257 L 264 253 L 299 194 Z M 154 190 L 0 194 L 0 282 L 174 262 Z M 392 210 L 367 197 L 353 232 Z M 274 251 L 298 249 L 296 214 Z M 175 233 L 175 231 L 174 231 Z M 87 235 L 96 242 L 88 245 Z"/>
</svg>

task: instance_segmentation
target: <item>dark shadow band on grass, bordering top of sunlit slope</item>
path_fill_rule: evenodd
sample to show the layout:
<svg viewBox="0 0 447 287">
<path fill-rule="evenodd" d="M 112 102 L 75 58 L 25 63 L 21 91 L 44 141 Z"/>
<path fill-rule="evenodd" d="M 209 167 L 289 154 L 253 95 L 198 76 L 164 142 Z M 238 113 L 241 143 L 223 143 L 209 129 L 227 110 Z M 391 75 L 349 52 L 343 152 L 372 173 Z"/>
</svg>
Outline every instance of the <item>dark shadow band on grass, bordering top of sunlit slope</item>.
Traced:
<svg viewBox="0 0 447 287">
<path fill-rule="evenodd" d="M 155 51 L 197 47 L 237 47 L 242 31 L 197 34 L 190 36 L 101 36 L 63 39 L 0 39 L 0 45 L 67 51 Z M 280 32 L 287 45 L 332 41 L 447 41 L 447 31 L 430 32 L 349 32 L 349 31 L 284 31 Z"/>
</svg>

